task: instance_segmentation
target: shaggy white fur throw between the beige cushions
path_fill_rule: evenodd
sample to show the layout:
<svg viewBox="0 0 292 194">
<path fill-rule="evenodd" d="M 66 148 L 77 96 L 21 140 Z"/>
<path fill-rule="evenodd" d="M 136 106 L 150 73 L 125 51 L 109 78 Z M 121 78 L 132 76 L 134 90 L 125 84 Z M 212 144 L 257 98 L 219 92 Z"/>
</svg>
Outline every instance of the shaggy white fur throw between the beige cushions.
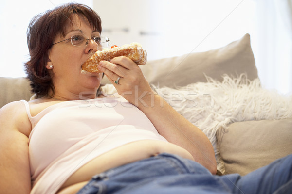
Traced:
<svg viewBox="0 0 292 194">
<path fill-rule="evenodd" d="M 258 78 L 250 81 L 245 74 L 238 78 L 224 75 L 222 82 L 208 77 L 208 82 L 179 88 L 159 87 L 155 91 L 207 135 L 221 173 L 225 173 L 225 169 L 218 148 L 217 130 L 226 129 L 234 122 L 292 117 L 292 96 L 266 90 Z"/>
</svg>

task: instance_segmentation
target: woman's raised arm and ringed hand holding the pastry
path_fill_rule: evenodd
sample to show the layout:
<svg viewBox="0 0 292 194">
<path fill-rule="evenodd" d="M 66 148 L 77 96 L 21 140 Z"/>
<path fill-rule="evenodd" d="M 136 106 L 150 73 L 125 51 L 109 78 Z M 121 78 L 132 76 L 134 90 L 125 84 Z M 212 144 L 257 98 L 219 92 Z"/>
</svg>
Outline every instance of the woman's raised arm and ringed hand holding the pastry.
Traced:
<svg viewBox="0 0 292 194">
<path fill-rule="evenodd" d="M 207 136 L 151 89 L 138 65 L 127 57 L 116 57 L 110 62 L 101 62 L 98 68 L 118 93 L 143 111 L 167 141 L 188 150 L 195 161 L 215 174 L 214 149 Z M 121 77 L 119 84 L 114 83 L 117 77 Z"/>
</svg>

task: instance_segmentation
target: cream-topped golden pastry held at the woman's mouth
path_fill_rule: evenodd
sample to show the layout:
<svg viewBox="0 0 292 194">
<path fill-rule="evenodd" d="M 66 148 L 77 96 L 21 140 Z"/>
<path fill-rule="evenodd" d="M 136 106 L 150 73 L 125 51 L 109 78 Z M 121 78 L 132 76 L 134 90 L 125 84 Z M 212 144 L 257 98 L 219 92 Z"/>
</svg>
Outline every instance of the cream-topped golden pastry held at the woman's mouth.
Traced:
<svg viewBox="0 0 292 194">
<path fill-rule="evenodd" d="M 91 73 L 100 73 L 97 66 L 102 60 L 110 61 L 114 57 L 126 56 L 137 65 L 144 65 L 147 62 L 147 52 L 138 43 L 131 43 L 122 47 L 112 46 L 111 49 L 96 51 L 82 66 L 82 70 Z"/>
</svg>

